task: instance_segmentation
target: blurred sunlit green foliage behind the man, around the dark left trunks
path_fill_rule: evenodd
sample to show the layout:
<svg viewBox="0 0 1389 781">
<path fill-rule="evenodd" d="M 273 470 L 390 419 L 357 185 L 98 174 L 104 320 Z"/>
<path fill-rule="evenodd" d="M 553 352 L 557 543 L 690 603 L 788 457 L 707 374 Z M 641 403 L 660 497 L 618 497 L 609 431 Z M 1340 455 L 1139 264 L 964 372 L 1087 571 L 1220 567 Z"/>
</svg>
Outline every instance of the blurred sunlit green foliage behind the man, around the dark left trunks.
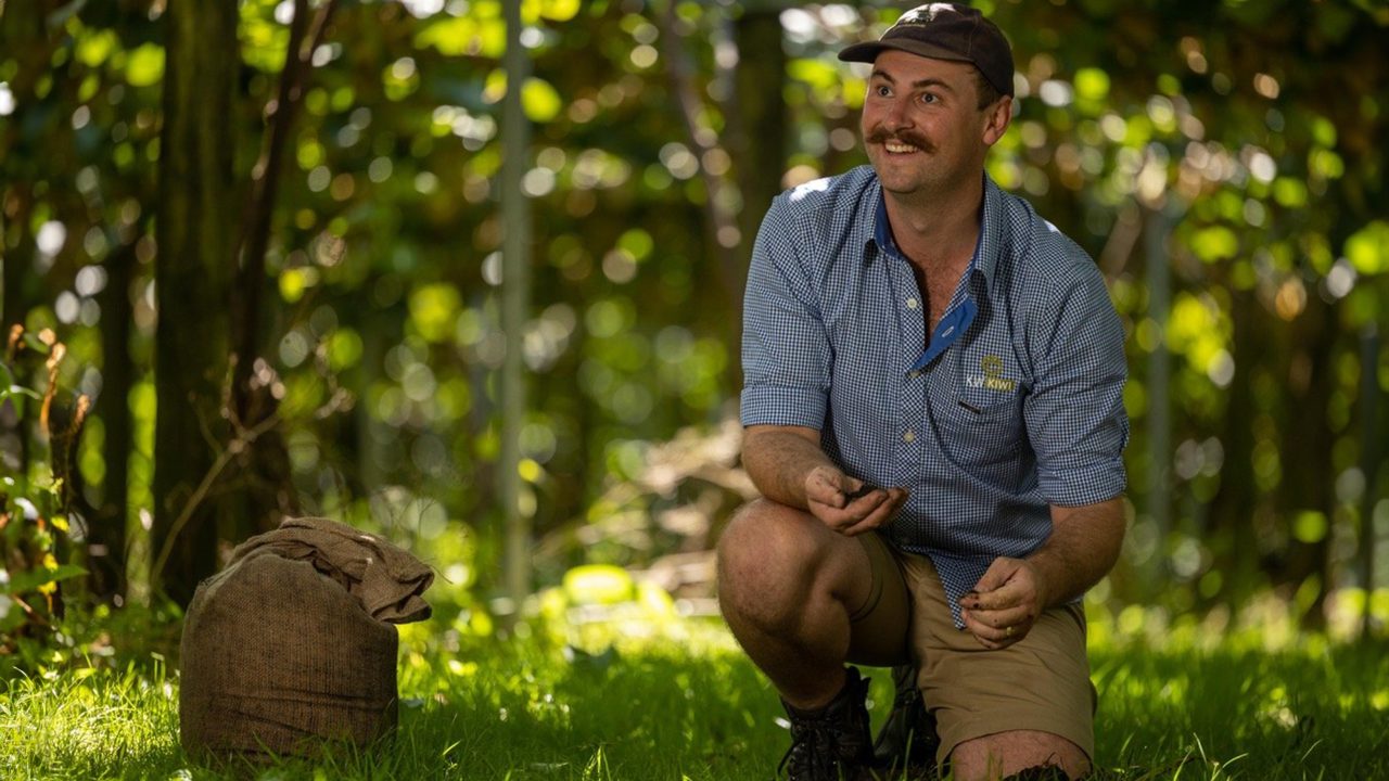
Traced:
<svg viewBox="0 0 1389 781">
<path fill-rule="evenodd" d="M 225 53 L 242 60 L 226 117 L 242 185 L 278 96 L 288 25 L 276 13 L 288 7 L 239 3 L 239 46 Z M 1272 0 L 981 7 L 1014 44 L 1018 85 L 989 172 L 1096 257 L 1129 335 L 1133 532 L 1114 596 L 1192 607 L 1238 605 L 1271 581 L 1289 599 L 1304 582 L 1383 585 L 1382 563 L 1367 574 L 1357 549 L 1383 536 L 1375 518 L 1389 513 L 1389 475 L 1361 474 L 1358 456 L 1389 436 L 1389 416 L 1375 431 L 1360 425 L 1357 382 L 1372 377 L 1382 393 L 1389 370 L 1382 357 L 1358 363 L 1358 334 L 1389 332 L 1383 11 Z M 164 8 L 11 1 L 0 13 L 4 315 L 64 329 L 67 388 L 100 399 L 108 378 L 131 377 L 128 403 L 90 427 L 81 491 L 100 499 L 114 467 L 129 464 L 118 523 L 133 531 L 132 571 L 147 554 L 139 520 L 156 502 L 156 461 L 171 457 L 153 453 L 149 238 Z M 749 172 L 796 185 L 864 161 L 863 71 L 835 53 L 900 13 L 778 13 L 786 69 L 754 103 L 785 106 L 789 126 L 785 156 L 761 160 L 738 147 L 739 133 L 764 128 L 746 126 L 735 99 L 761 53 L 731 56 L 740 25 L 767 6 L 665 8 L 522 6 L 533 75 L 521 89 L 536 125 L 524 178 L 535 303 L 522 504 L 542 539 L 542 585 L 582 563 L 646 566 L 707 548 L 713 531 L 669 534 L 663 513 L 693 509 L 717 528 L 736 492 L 700 503 L 693 472 L 675 486 L 643 477 L 660 443 L 686 428 L 717 434 L 736 407 L 738 274 L 753 236 L 721 257 L 728 238 L 707 207 L 761 211 L 739 190 Z M 440 570 L 468 573 L 468 625 L 499 568 L 501 10 L 338 4 L 285 150 L 263 290 L 274 306 L 260 324 L 304 510 L 364 528 L 418 520 L 407 539 L 438 546 Z M 690 69 L 688 94 L 676 63 Z M 1150 231 L 1163 235 L 1149 242 Z M 117 282 L 122 263 L 129 278 Z M 1151 265 L 1170 275 L 1168 302 L 1156 302 Z M 128 338 L 108 345 L 124 325 Z M 1154 367 L 1168 352 L 1164 381 Z M 318 416 L 335 388 L 356 407 Z M 1172 446 L 1153 454 L 1161 397 Z M 107 463 L 97 435 L 118 428 L 122 409 L 129 457 Z M 1160 503 L 1167 528 L 1156 525 Z M 607 534 L 581 542 L 596 528 Z M 458 561 L 443 553 L 454 538 L 468 546 Z"/>
</svg>

